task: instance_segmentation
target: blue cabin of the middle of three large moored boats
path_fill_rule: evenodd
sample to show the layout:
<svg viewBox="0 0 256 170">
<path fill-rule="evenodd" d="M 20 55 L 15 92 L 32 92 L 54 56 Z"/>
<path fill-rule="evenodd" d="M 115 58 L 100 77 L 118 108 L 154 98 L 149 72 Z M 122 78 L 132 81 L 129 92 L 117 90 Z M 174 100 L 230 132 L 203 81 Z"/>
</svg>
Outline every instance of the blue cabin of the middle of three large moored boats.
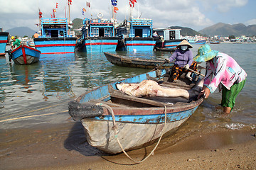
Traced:
<svg viewBox="0 0 256 170">
<path fill-rule="evenodd" d="M 114 37 L 114 21 L 102 18 L 85 18 L 82 25 L 84 37 Z"/>
</svg>

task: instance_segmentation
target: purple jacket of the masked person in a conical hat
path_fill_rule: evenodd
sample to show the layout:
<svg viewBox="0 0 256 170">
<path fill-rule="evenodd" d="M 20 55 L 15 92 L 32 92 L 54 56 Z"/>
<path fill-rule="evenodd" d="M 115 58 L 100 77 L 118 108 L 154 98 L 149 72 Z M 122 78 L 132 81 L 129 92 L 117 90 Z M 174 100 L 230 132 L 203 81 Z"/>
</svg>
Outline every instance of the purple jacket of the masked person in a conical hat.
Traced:
<svg viewBox="0 0 256 170">
<path fill-rule="evenodd" d="M 191 50 L 180 50 L 177 49 L 173 55 L 169 58 L 170 62 L 174 61 L 174 64 L 178 65 L 178 67 L 184 67 L 186 64 L 191 66 L 193 62 L 193 54 Z"/>
</svg>

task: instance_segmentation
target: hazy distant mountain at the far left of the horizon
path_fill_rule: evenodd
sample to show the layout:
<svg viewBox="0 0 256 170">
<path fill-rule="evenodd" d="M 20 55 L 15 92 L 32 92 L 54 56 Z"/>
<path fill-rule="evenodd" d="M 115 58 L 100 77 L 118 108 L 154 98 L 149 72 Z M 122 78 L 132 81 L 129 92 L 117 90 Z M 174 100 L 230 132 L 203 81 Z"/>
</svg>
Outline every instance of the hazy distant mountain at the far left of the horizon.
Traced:
<svg viewBox="0 0 256 170">
<path fill-rule="evenodd" d="M 17 35 L 18 37 L 24 37 L 25 35 L 28 37 L 32 37 L 34 33 L 36 33 L 36 30 L 32 30 L 28 27 L 16 27 L 6 30 L 6 32 L 9 32 L 9 35 Z"/>
</svg>

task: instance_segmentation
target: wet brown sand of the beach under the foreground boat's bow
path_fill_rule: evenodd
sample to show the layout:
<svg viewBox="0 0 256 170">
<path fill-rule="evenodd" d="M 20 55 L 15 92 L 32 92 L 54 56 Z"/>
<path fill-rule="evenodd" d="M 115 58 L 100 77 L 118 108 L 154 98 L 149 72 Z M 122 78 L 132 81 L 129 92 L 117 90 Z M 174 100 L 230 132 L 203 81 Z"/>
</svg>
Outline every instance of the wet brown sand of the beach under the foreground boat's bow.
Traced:
<svg viewBox="0 0 256 170">
<path fill-rule="evenodd" d="M 0 169 L 256 169 L 255 132 L 215 129 L 181 140 L 166 137 L 154 155 L 134 164 L 124 154 L 88 145 L 80 122 L 1 130 Z M 140 161 L 154 145 L 128 154 Z"/>
</svg>

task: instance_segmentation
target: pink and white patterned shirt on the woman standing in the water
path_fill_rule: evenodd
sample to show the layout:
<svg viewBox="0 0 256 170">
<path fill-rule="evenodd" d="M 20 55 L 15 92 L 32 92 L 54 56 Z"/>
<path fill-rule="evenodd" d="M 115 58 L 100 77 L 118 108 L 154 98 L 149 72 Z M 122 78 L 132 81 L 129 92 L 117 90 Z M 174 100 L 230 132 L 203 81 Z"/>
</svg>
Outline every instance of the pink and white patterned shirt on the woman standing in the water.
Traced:
<svg viewBox="0 0 256 170">
<path fill-rule="evenodd" d="M 227 54 L 218 52 L 218 55 L 212 60 L 206 62 L 206 77 L 204 86 L 213 93 L 221 83 L 228 90 L 233 84 L 244 81 L 247 77 L 243 70 L 235 60 Z"/>
</svg>

